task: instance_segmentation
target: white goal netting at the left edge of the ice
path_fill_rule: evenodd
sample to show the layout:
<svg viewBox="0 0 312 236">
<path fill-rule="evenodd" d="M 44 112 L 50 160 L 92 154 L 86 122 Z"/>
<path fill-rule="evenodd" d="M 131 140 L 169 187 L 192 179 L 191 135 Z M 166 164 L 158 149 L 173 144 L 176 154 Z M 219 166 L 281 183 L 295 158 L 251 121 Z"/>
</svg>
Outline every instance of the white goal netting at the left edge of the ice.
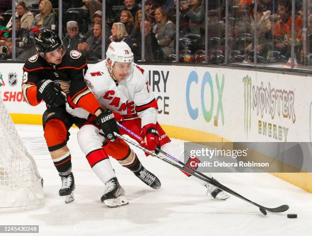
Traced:
<svg viewBox="0 0 312 236">
<path fill-rule="evenodd" d="M 0 98 L 0 212 L 44 204 L 41 177 Z"/>
</svg>

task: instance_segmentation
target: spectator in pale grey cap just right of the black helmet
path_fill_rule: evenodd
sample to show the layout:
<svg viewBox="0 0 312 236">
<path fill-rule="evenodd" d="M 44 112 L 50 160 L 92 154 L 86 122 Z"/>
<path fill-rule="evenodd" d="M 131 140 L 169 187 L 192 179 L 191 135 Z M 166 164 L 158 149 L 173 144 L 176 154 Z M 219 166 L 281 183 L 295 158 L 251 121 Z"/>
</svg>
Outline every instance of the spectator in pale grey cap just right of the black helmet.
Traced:
<svg viewBox="0 0 312 236">
<path fill-rule="evenodd" d="M 68 21 L 66 24 L 67 34 L 63 38 L 63 46 L 68 50 L 77 50 L 78 43 L 84 41 L 84 36 L 79 33 L 79 27 L 76 21 Z"/>
</svg>

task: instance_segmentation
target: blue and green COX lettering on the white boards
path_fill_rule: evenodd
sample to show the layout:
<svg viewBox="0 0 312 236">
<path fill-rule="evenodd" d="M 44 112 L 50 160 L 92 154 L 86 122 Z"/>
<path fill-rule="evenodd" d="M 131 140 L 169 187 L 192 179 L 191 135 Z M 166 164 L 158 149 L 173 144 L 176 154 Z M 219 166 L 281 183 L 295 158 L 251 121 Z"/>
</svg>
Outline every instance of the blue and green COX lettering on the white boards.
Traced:
<svg viewBox="0 0 312 236">
<path fill-rule="evenodd" d="M 191 97 L 190 97 L 190 90 L 194 89 L 196 92 L 200 91 L 200 104 L 203 117 L 207 123 L 209 123 L 214 114 L 214 101 L 215 101 L 215 90 L 213 86 L 213 80 L 211 74 L 206 72 L 201 80 L 200 87 L 196 86 L 198 84 L 198 75 L 195 71 L 192 71 L 189 75 L 187 86 L 186 86 L 186 103 L 188 107 L 188 112 L 193 120 L 198 118 L 198 107 L 192 107 L 191 105 Z M 222 95 L 224 89 L 224 75 L 222 75 L 221 86 L 218 78 L 218 74 L 216 74 L 216 88 L 217 88 L 217 95 L 218 95 L 218 103 L 215 115 L 215 126 L 218 126 L 219 114 L 221 114 L 222 125 L 224 125 L 224 112 L 223 112 L 223 105 L 222 105 Z M 193 84 L 195 83 L 195 84 Z M 208 88 L 209 87 L 209 88 Z M 199 90 L 200 88 L 200 90 Z M 210 97 L 207 97 L 206 89 L 210 89 Z M 195 93 L 194 93 L 195 94 Z M 204 96 L 205 95 L 205 96 Z M 193 98 L 194 99 L 194 98 Z M 194 104 L 194 101 L 193 101 Z"/>
</svg>

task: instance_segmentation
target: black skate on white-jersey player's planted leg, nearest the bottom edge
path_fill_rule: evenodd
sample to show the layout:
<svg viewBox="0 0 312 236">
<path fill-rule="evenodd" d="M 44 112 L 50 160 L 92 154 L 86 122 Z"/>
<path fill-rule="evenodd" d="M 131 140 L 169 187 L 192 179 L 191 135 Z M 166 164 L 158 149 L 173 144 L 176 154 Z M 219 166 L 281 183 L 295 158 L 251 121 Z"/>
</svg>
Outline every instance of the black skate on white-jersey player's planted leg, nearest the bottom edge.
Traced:
<svg viewBox="0 0 312 236">
<path fill-rule="evenodd" d="M 128 204 L 128 200 L 124 197 L 124 190 L 119 184 L 116 177 L 106 183 L 106 190 L 101 197 L 101 202 L 108 207 L 118 207 Z"/>
</svg>

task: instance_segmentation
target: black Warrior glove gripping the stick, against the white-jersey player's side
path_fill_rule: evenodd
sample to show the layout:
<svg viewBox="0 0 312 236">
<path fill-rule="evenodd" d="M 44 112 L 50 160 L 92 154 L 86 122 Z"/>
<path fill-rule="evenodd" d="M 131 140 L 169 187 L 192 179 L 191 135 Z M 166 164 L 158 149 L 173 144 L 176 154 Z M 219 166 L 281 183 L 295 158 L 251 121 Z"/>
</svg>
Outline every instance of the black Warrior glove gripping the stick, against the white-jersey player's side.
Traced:
<svg viewBox="0 0 312 236">
<path fill-rule="evenodd" d="M 114 114 L 111 110 L 107 109 L 96 117 L 95 122 L 99 124 L 104 136 L 110 141 L 115 141 L 117 137 L 114 132 L 119 133 L 117 123 L 114 119 Z"/>
</svg>

